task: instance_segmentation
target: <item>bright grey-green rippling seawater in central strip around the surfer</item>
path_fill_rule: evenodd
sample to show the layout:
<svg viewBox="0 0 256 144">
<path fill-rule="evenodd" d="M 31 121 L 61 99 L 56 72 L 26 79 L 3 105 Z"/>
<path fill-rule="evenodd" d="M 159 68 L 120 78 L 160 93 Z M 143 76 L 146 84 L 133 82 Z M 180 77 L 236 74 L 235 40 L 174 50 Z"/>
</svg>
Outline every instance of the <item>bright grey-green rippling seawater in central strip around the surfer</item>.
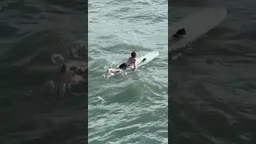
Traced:
<svg viewBox="0 0 256 144">
<path fill-rule="evenodd" d="M 88 142 L 168 142 L 168 5 L 89 1 Z M 136 51 L 159 56 L 134 73 L 104 78 Z"/>
</svg>

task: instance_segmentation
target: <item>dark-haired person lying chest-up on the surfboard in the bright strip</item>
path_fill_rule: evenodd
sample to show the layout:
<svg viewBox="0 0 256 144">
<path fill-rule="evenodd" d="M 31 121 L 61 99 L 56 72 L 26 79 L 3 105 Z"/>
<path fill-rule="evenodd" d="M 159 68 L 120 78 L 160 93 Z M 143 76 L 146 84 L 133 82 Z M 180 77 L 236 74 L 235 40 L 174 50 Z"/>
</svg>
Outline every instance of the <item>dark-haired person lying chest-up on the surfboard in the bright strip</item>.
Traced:
<svg viewBox="0 0 256 144">
<path fill-rule="evenodd" d="M 130 58 L 128 58 L 127 62 L 122 63 L 116 69 L 113 68 L 113 69 L 106 70 L 106 74 L 120 73 L 123 70 L 126 70 L 127 68 L 132 68 L 132 70 L 136 70 L 136 68 L 137 68 L 137 66 L 136 66 L 137 58 L 136 57 L 137 57 L 137 54 L 136 54 L 136 52 L 133 51 L 130 54 Z"/>
</svg>

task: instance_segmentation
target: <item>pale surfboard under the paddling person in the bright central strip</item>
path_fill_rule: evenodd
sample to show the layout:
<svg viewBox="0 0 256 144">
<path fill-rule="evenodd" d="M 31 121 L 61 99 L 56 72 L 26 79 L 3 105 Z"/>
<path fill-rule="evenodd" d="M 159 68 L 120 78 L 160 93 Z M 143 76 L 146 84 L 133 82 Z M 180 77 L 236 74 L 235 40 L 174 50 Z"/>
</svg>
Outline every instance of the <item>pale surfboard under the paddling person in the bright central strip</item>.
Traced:
<svg viewBox="0 0 256 144">
<path fill-rule="evenodd" d="M 158 51 L 152 51 L 152 52 L 138 58 L 137 59 L 137 68 L 146 65 L 148 62 L 152 61 L 154 58 L 157 58 L 158 55 L 159 55 Z M 108 73 L 110 70 L 117 70 L 117 69 L 113 69 L 113 68 L 108 69 L 106 67 L 106 78 L 110 78 L 111 76 L 114 76 L 116 74 L 124 74 L 124 72 L 129 73 L 130 71 L 132 71 L 132 68 L 127 68 L 126 70 L 120 70 L 117 73 L 112 73 L 112 72 Z"/>
</svg>

